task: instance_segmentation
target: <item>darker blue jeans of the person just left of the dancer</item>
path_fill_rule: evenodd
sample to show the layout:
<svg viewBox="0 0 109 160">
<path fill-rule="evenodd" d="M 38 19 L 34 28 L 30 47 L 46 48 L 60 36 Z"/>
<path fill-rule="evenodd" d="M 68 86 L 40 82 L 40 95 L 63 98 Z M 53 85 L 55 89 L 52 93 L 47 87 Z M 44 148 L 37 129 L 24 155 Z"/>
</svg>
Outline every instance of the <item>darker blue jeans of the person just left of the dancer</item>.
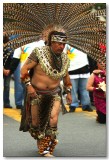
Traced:
<svg viewBox="0 0 109 160">
<path fill-rule="evenodd" d="M 20 63 L 14 71 L 14 96 L 15 96 L 15 105 L 22 105 L 24 100 L 24 89 L 20 80 Z"/>
</svg>

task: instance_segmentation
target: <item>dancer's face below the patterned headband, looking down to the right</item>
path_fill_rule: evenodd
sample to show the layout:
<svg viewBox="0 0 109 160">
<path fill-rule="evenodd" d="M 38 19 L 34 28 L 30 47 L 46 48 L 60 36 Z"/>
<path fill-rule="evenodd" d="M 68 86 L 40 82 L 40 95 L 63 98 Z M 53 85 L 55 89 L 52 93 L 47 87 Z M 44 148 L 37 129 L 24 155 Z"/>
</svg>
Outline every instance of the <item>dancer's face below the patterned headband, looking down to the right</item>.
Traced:
<svg viewBox="0 0 109 160">
<path fill-rule="evenodd" d="M 61 42 L 52 42 L 51 43 L 51 48 L 52 48 L 53 52 L 56 54 L 61 54 L 64 50 L 64 47 L 65 47 L 65 43 L 61 43 Z"/>
</svg>

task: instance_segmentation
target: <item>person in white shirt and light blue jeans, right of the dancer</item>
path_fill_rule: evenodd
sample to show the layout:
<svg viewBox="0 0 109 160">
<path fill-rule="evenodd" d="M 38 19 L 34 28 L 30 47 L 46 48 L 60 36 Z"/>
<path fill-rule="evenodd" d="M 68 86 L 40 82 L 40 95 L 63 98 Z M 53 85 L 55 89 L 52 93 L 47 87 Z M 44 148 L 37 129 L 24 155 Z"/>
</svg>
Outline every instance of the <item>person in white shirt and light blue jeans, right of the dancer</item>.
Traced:
<svg viewBox="0 0 109 160">
<path fill-rule="evenodd" d="M 90 76 L 87 54 L 68 44 L 66 44 L 64 52 L 67 52 L 70 59 L 70 67 L 68 71 L 72 82 L 71 93 L 73 101 L 69 106 L 69 112 L 74 112 L 80 104 L 82 105 L 83 111 L 92 112 L 93 109 L 91 108 L 89 92 L 86 90 L 87 80 Z"/>
</svg>

